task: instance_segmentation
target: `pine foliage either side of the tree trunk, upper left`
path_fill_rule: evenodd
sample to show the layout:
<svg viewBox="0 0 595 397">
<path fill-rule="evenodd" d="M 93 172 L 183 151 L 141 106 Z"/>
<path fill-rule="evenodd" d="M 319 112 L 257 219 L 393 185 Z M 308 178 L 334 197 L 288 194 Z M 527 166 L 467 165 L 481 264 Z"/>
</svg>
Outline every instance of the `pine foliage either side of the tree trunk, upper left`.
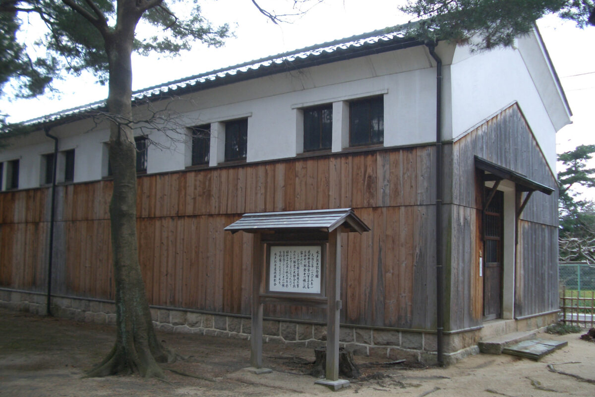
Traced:
<svg viewBox="0 0 595 397">
<path fill-rule="evenodd" d="M 175 56 L 195 42 L 219 46 L 230 36 L 227 24 L 215 27 L 202 16 L 196 0 L 136 3 L 144 7 L 151 3 L 139 26 L 158 32 L 135 35 L 134 51 L 139 54 Z M 10 96 L 17 98 L 42 95 L 64 72 L 78 76 L 91 71 L 99 83 L 106 84 L 106 35 L 100 32 L 116 29 L 123 8 L 118 11 L 115 0 L 0 0 L 0 95 L 7 94 L 7 86 Z M 33 36 L 39 38 L 24 39 Z"/>
</svg>

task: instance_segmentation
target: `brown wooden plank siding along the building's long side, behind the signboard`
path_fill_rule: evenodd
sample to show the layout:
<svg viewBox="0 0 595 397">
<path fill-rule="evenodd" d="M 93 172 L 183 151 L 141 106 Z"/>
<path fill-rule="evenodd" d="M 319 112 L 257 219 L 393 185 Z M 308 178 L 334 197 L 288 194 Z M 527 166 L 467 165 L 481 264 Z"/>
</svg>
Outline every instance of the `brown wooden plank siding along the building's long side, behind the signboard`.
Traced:
<svg viewBox="0 0 595 397">
<path fill-rule="evenodd" d="M 250 312 L 252 236 L 223 227 L 245 212 L 354 207 L 371 227 L 343 237 L 342 321 L 433 329 L 434 149 L 296 158 L 141 176 L 139 260 L 151 304 Z M 113 299 L 111 182 L 57 187 L 55 293 Z M 0 193 L 0 286 L 46 288 L 48 188 Z M 324 320 L 322 310 L 265 315 Z"/>
</svg>

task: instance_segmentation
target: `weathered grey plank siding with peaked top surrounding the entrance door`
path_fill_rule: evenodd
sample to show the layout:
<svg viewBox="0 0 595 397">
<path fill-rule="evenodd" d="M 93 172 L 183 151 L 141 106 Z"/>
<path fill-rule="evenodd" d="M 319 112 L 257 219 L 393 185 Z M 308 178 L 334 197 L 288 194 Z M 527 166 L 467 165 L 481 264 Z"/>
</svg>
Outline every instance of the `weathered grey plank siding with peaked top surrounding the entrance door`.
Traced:
<svg viewBox="0 0 595 397">
<path fill-rule="evenodd" d="M 478 274 L 481 242 L 481 178 L 474 155 L 556 189 L 556 179 L 517 104 L 452 145 L 452 209 L 447 237 L 447 329 L 481 325 L 483 280 Z M 449 186 L 449 185 L 446 185 Z M 515 317 L 558 308 L 558 191 L 535 192 L 521 214 L 516 245 Z"/>
</svg>

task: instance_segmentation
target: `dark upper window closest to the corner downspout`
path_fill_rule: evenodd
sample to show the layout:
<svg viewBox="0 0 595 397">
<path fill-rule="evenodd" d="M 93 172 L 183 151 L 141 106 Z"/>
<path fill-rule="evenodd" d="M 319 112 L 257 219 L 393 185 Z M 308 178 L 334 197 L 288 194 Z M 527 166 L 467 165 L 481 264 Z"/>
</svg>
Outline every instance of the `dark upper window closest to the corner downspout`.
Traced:
<svg viewBox="0 0 595 397">
<path fill-rule="evenodd" d="M 384 142 L 384 98 L 362 99 L 349 104 L 349 146 Z"/>
</svg>

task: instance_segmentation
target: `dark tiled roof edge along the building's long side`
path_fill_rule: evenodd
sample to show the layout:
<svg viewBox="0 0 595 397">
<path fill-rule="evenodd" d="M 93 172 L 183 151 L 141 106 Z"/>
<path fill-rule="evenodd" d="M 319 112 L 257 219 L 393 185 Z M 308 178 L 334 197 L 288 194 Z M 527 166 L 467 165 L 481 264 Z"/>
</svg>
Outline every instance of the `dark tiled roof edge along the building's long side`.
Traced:
<svg viewBox="0 0 595 397">
<path fill-rule="evenodd" d="M 174 80 L 158 86 L 137 90 L 132 94 L 133 104 L 159 99 L 161 96 L 182 95 L 213 86 L 226 85 L 255 77 L 295 70 L 297 68 L 325 64 L 393 49 L 419 45 L 421 42 L 408 35 L 411 25 L 375 30 L 362 35 L 346 37 L 292 52 L 273 55 L 195 76 Z M 62 110 L 42 117 L 24 121 L 26 126 L 60 122 L 84 117 L 89 112 L 104 110 L 106 101 L 93 102 L 80 107 Z"/>
</svg>

